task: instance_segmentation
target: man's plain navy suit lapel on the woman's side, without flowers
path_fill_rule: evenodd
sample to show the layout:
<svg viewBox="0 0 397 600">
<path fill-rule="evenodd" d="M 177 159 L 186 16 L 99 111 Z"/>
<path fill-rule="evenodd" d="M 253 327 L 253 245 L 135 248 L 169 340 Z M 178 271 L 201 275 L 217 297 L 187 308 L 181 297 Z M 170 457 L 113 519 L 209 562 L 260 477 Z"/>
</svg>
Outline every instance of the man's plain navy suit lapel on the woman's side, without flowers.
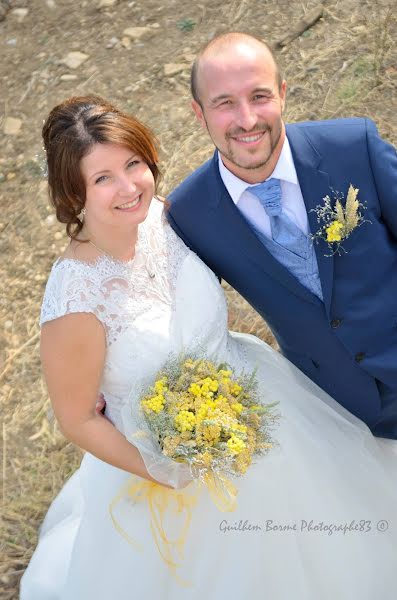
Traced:
<svg viewBox="0 0 397 600">
<path fill-rule="evenodd" d="M 212 174 L 216 179 L 214 188 L 218 190 L 218 193 L 210 195 L 209 204 L 213 209 L 213 226 L 217 231 L 222 231 L 223 238 L 227 236 L 225 246 L 236 247 L 238 244 L 239 251 L 245 255 L 248 261 L 255 262 L 263 271 L 295 295 L 306 301 L 318 303 L 317 296 L 312 294 L 288 269 L 279 263 L 256 236 L 226 190 L 219 174 L 217 160 L 215 154 Z"/>
</svg>

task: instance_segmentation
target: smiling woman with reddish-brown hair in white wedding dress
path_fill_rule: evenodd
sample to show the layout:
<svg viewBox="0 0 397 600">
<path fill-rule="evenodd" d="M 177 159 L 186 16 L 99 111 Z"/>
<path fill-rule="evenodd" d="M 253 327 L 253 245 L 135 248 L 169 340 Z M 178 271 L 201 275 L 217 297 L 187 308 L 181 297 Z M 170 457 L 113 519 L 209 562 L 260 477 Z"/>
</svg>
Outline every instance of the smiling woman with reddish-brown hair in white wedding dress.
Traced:
<svg viewBox="0 0 397 600">
<path fill-rule="evenodd" d="M 146 127 L 88 96 L 55 107 L 43 137 L 51 200 L 71 240 L 47 283 L 41 356 L 59 425 L 86 454 L 47 513 L 21 600 L 394 599 L 393 448 L 268 345 L 227 331 L 218 280 L 154 195 Z M 275 447 L 235 481 L 234 512 L 189 481 L 152 486 L 194 500 L 176 574 L 151 529 L 153 506 L 124 499 L 117 522 L 110 507 L 131 478 L 155 481 L 123 409 L 171 353 L 203 348 L 236 371 L 256 367 L 281 417 Z M 180 515 L 163 516 L 177 537 Z"/>
</svg>

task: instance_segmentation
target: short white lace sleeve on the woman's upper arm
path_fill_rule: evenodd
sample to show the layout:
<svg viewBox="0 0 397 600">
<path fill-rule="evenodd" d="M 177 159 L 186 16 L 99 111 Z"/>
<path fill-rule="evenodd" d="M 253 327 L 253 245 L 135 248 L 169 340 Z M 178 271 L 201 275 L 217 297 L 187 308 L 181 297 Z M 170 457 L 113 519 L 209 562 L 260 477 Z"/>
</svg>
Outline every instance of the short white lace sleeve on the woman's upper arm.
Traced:
<svg viewBox="0 0 397 600">
<path fill-rule="evenodd" d="M 93 313 L 103 322 L 103 291 L 90 266 L 58 260 L 50 273 L 41 306 L 40 325 L 70 313 Z"/>
</svg>

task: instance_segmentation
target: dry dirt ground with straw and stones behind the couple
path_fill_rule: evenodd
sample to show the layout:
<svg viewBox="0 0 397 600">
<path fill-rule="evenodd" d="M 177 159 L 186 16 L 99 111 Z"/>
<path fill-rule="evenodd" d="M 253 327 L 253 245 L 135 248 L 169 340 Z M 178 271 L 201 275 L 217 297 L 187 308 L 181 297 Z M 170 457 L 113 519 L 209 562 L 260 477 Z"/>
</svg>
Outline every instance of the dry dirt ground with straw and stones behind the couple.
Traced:
<svg viewBox="0 0 397 600">
<path fill-rule="evenodd" d="M 303 31 L 319 7 L 322 17 Z M 38 356 L 45 281 L 67 243 L 43 176 L 49 110 L 93 92 L 135 113 L 161 140 L 166 194 L 212 152 L 190 109 L 193 57 L 214 33 L 239 30 L 276 48 L 286 121 L 371 116 L 396 144 L 393 8 L 395 0 L 0 0 L 1 600 L 18 597 L 43 514 L 80 458 L 51 417 Z M 83 53 L 78 66 L 71 52 Z M 271 340 L 227 295 L 231 326 Z"/>
</svg>

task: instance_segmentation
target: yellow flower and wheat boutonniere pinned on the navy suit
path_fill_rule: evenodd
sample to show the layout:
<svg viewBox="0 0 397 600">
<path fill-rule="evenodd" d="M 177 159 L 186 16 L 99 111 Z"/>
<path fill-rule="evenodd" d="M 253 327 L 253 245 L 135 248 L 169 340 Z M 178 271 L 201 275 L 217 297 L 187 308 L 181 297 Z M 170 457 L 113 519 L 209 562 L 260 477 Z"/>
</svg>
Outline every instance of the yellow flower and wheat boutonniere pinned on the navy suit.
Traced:
<svg viewBox="0 0 397 600">
<path fill-rule="evenodd" d="M 344 202 L 341 192 L 333 191 L 334 202 L 327 195 L 323 198 L 324 204 L 312 209 L 316 213 L 317 222 L 321 227 L 311 238 L 317 243 L 319 238 L 327 242 L 331 254 L 325 254 L 325 256 L 347 252 L 343 247 L 344 240 L 347 240 L 349 235 L 363 223 L 370 223 L 363 216 L 365 205 L 359 202 L 358 192 L 358 188 L 350 184 L 346 202 Z"/>
</svg>

